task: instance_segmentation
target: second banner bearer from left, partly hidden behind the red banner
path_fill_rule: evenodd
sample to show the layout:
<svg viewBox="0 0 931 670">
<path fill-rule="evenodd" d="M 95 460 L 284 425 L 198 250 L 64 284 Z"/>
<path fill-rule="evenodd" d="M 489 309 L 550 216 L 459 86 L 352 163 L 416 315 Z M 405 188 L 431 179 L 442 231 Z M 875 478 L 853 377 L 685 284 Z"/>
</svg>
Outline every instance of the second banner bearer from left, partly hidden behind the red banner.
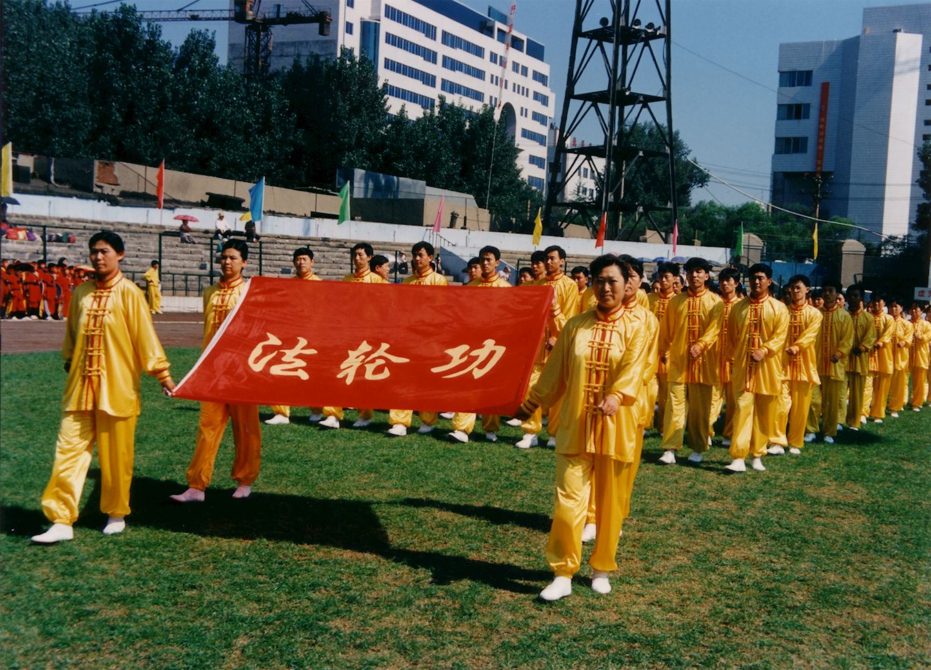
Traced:
<svg viewBox="0 0 931 670">
<path fill-rule="evenodd" d="M 210 340 L 233 311 L 236 302 L 246 290 L 242 271 L 249 262 L 249 246 L 241 239 L 226 240 L 220 253 L 221 280 L 204 291 L 204 343 Z M 194 458 L 187 468 L 188 488 L 169 496 L 177 503 L 203 503 L 204 491 L 213 476 L 213 462 L 220 449 L 220 440 L 226 424 L 233 422 L 233 479 L 236 481 L 234 498 L 248 498 L 252 483 L 259 476 L 262 463 L 262 422 L 258 405 L 229 405 L 218 402 L 201 402 L 197 422 Z"/>
</svg>

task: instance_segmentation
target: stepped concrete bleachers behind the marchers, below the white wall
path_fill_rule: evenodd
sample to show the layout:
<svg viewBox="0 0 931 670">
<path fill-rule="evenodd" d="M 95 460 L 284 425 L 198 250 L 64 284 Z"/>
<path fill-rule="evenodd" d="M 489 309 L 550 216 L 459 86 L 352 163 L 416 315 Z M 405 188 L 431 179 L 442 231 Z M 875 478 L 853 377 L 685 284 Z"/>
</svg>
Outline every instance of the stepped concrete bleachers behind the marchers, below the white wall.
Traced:
<svg viewBox="0 0 931 670">
<path fill-rule="evenodd" d="M 58 261 L 65 257 L 70 264 L 86 263 L 88 240 L 91 235 L 101 230 L 104 225 L 101 221 L 88 221 L 80 219 L 61 219 L 44 216 L 19 216 L 14 225 L 31 228 L 35 235 L 42 236 L 46 227 L 47 233 L 74 235 L 74 243 L 47 242 L 46 257 L 50 261 Z M 124 274 L 138 283 L 142 283 L 142 273 L 150 267 L 150 263 L 158 258 L 158 239 L 162 235 L 162 291 L 165 295 L 196 296 L 203 292 L 210 284 L 210 254 L 216 248 L 216 241 L 211 238 L 208 231 L 195 229 L 191 235 L 196 244 L 183 244 L 177 236 L 178 226 L 158 226 L 142 223 L 122 223 L 108 221 L 105 224 L 110 230 L 123 237 L 126 243 L 126 260 L 123 261 Z M 309 246 L 314 250 L 314 269 L 317 275 L 324 279 L 340 279 L 351 272 L 349 250 L 359 240 L 297 237 L 292 235 L 262 235 L 261 275 L 264 276 L 291 276 L 293 265 L 292 253 L 295 248 Z M 389 261 L 395 260 L 396 252 L 408 254 L 410 266 L 411 246 L 409 244 L 377 242 L 372 247 L 376 254 L 385 255 Z M 454 252 L 454 249 L 450 249 Z M 511 266 L 524 266 L 530 261 L 529 250 L 515 250 L 502 248 L 502 261 Z M 0 241 L 0 256 L 6 259 L 20 261 L 35 261 L 43 257 L 43 243 L 36 241 L 7 240 Z M 591 256 L 572 256 L 566 261 L 566 272 L 575 265 L 587 265 L 595 258 Z M 654 269 L 652 263 L 646 264 L 647 274 Z M 259 245 L 250 245 L 250 265 L 247 275 L 260 274 Z M 219 275 L 219 266 L 214 264 L 214 279 Z M 448 276 L 451 283 L 459 283 L 461 276 Z"/>
</svg>

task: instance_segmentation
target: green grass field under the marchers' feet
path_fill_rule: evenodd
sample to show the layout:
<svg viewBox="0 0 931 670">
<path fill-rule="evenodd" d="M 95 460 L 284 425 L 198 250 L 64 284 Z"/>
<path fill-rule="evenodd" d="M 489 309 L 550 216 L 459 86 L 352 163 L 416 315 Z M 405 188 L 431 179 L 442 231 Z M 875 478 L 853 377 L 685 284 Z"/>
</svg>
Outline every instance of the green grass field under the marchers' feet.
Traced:
<svg viewBox="0 0 931 670">
<path fill-rule="evenodd" d="M 169 351 L 175 378 L 196 352 Z M 91 466 L 74 541 L 34 546 L 64 374 L 4 355 L 0 664 L 6 667 L 917 667 L 929 641 L 931 409 L 723 476 L 644 446 L 614 592 L 555 604 L 554 455 L 436 436 L 264 430 L 233 501 L 227 432 L 207 502 L 184 489 L 196 404 L 143 380 L 133 514 L 101 535 Z M 267 411 L 263 418 L 267 418 Z M 354 418 L 354 417 L 353 417 Z M 296 420 L 295 420 L 296 419 Z"/>
</svg>

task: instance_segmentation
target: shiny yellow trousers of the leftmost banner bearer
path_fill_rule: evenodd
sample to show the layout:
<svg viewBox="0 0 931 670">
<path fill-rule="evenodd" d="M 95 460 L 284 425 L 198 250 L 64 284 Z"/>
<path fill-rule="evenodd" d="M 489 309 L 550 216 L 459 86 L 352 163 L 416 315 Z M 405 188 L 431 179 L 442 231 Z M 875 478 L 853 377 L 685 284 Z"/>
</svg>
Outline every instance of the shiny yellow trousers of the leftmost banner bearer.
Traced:
<svg viewBox="0 0 931 670">
<path fill-rule="evenodd" d="M 95 442 L 101 465 L 101 512 L 120 518 L 129 514 L 137 419 L 102 411 L 69 411 L 61 415 L 55 462 L 42 494 L 42 511 L 49 521 L 73 526 L 77 520 Z"/>
</svg>

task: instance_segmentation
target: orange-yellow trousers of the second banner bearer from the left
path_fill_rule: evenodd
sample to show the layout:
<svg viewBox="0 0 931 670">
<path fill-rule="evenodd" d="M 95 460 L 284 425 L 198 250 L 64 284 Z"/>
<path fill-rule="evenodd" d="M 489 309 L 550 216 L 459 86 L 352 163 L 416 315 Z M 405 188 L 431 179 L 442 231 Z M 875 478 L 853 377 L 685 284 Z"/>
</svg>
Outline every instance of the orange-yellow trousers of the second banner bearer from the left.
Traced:
<svg viewBox="0 0 931 670">
<path fill-rule="evenodd" d="M 233 420 L 233 479 L 243 486 L 251 486 L 259 476 L 262 464 L 262 427 L 258 405 L 226 405 L 200 403 L 200 420 L 197 422 L 194 458 L 187 468 L 187 485 L 192 489 L 206 490 L 213 475 L 213 462 L 220 449 L 220 440 L 226 423 Z"/>
</svg>

